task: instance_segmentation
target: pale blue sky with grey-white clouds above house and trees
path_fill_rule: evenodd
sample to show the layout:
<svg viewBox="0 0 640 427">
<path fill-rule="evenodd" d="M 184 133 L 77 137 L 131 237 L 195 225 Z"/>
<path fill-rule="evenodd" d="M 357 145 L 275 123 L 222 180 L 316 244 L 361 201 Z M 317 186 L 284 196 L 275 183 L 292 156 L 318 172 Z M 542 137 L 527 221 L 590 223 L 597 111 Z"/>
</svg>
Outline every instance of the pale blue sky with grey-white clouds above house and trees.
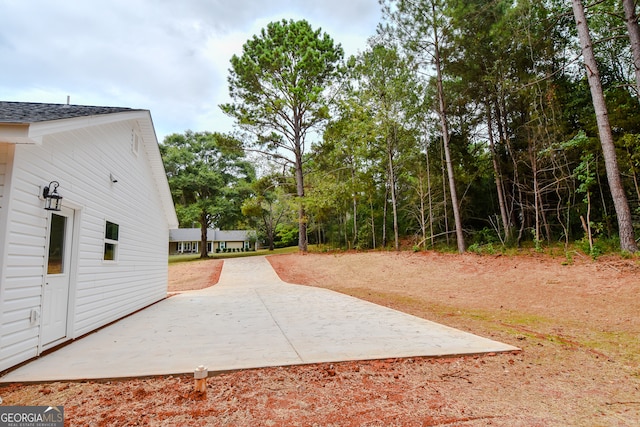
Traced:
<svg viewBox="0 0 640 427">
<path fill-rule="evenodd" d="M 0 0 L 0 100 L 151 111 L 158 140 L 231 130 L 230 58 L 269 22 L 306 19 L 345 54 L 378 0 Z"/>
</svg>

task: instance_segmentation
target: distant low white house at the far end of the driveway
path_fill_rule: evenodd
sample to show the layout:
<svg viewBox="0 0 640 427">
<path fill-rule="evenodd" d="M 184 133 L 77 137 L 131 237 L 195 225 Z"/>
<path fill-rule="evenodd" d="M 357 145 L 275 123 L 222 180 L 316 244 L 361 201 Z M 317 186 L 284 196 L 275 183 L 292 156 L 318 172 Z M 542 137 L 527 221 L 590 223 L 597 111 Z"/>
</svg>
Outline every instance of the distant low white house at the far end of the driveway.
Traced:
<svg viewBox="0 0 640 427">
<path fill-rule="evenodd" d="M 200 228 L 169 230 L 169 255 L 200 253 Z M 256 232 L 251 230 L 207 230 L 207 253 L 256 250 Z"/>
</svg>

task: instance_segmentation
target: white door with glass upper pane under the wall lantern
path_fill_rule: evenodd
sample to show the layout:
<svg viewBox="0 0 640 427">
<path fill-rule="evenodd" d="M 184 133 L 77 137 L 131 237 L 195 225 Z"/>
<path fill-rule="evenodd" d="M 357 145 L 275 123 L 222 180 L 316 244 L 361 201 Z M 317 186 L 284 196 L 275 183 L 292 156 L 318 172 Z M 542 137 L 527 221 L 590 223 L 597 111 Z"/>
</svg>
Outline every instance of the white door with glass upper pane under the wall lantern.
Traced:
<svg viewBox="0 0 640 427">
<path fill-rule="evenodd" d="M 63 207 L 49 217 L 48 256 L 42 303 L 42 347 L 67 336 L 73 210 Z"/>
</svg>

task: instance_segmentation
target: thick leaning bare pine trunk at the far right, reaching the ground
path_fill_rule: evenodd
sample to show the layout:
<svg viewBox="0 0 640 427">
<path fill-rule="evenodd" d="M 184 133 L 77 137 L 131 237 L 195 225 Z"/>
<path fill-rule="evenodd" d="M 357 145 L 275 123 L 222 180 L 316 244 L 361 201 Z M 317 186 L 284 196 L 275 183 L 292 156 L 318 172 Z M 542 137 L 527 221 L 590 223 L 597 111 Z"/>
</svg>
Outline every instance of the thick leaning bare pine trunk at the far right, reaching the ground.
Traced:
<svg viewBox="0 0 640 427">
<path fill-rule="evenodd" d="M 573 14 L 578 28 L 578 37 L 582 46 L 582 55 L 587 71 L 587 79 L 589 88 L 591 89 L 591 98 L 593 108 L 596 112 L 596 121 L 598 123 L 598 133 L 600 134 L 600 145 L 604 154 L 604 163 L 607 170 L 607 179 L 613 204 L 618 217 L 618 233 L 620 235 L 620 249 L 629 252 L 636 252 L 638 246 L 633 233 L 633 223 L 631 220 L 631 210 L 629 202 L 622 186 L 620 178 L 620 170 L 618 168 L 618 159 L 616 157 L 615 146 L 613 144 L 613 135 L 611 133 L 611 125 L 607 113 L 607 106 L 602 92 L 602 82 L 600 81 L 600 73 L 598 72 L 598 64 L 593 54 L 593 45 L 591 42 L 591 34 L 587 18 L 584 13 L 584 6 L 581 0 L 572 0 Z"/>
</svg>

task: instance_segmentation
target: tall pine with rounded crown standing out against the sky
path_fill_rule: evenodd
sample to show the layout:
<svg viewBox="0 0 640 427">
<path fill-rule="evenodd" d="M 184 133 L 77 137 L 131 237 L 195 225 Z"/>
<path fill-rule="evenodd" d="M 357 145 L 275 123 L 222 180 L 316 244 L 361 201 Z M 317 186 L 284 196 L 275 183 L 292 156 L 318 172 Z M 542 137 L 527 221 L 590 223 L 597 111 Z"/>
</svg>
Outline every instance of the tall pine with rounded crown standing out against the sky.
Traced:
<svg viewBox="0 0 640 427">
<path fill-rule="evenodd" d="M 272 22 L 231 58 L 232 103 L 222 110 L 256 136 L 258 150 L 295 168 L 298 241 L 307 250 L 303 157 L 307 133 L 329 118 L 343 51 L 307 21 Z"/>
</svg>

